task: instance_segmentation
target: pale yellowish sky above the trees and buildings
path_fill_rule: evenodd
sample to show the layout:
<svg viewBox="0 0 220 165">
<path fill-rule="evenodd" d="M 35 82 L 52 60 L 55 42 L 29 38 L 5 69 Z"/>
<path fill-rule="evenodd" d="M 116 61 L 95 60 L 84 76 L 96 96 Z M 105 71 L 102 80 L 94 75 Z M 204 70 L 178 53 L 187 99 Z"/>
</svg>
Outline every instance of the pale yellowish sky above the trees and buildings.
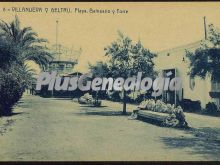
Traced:
<svg viewBox="0 0 220 165">
<path fill-rule="evenodd" d="M 127 10 L 127 14 L 98 13 L 31 13 L 12 12 L 12 7 L 79 8 L 80 10 L 110 9 Z M 10 11 L 3 11 L 3 8 Z M 21 26 L 31 26 L 39 37 L 50 44 L 58 43 L 74 49 L 82 48 L 78 71 L 87 71 L 88 62 L 105 59 L 104 47 L 117 40 L 117 31 L 129 36 L 134 42 L 141 40 L 152 52 L 189 44 L 204 38 L 203 17 L 207 24 L 220 27 L 219 2 L 91 2 L 91 3 L 0 3 L 0 19 L 10 22 L 18 15 Z"/>
</svg>

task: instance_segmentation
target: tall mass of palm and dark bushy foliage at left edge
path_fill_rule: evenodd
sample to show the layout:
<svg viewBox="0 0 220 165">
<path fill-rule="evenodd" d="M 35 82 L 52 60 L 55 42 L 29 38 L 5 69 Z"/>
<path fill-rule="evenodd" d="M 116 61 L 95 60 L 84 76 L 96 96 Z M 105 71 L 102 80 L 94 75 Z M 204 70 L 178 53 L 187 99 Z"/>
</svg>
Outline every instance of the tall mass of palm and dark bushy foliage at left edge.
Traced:
<svg viewBox="0 0 220 165">
<path fill-rule="evenodd" d="M 33 70 L 25 64 L 32 60 L 44 68 L 52 59 L 31 27 L 20 27 L 18 17 L 11 23 L 0 20 L 0 115 L 11 114 L 11 107 L 33 82 Z"/>
</svg>

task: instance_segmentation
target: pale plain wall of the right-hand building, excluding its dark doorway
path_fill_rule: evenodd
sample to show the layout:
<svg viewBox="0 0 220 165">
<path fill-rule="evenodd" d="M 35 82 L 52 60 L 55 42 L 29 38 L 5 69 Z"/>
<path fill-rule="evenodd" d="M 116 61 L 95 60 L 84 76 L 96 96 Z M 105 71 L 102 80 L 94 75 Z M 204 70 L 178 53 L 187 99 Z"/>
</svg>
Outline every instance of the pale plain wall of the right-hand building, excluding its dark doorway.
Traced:
<svg viewBox="0 0 220 165">
<path fill-rule="evenodd" d="M 193 101 L 200 100 L 201 105 L 204 108 L 205 105 L 211 101 L 209 91 L 211 90 L 211 81 L 207 77 L 205 80 L 195 78 L 194 88 L 190 88 L 189 61 L 185 56 L 186 50 L 194 52 L 200 47 L 201 41 L 194 42 L 188 45 L 176 47 L 169 50 L 158 52 L 158 57 L 155 58 L 155 69 L 162 71 L 164 69 L 177 69 L 177 76 L 182 79 L 183 98 L 191 99 Z M 192 80 L 193 81 L 193 80 Z M 182 96 L 182 90 L 178 91 L 179 98 Z"/>
</svg>

